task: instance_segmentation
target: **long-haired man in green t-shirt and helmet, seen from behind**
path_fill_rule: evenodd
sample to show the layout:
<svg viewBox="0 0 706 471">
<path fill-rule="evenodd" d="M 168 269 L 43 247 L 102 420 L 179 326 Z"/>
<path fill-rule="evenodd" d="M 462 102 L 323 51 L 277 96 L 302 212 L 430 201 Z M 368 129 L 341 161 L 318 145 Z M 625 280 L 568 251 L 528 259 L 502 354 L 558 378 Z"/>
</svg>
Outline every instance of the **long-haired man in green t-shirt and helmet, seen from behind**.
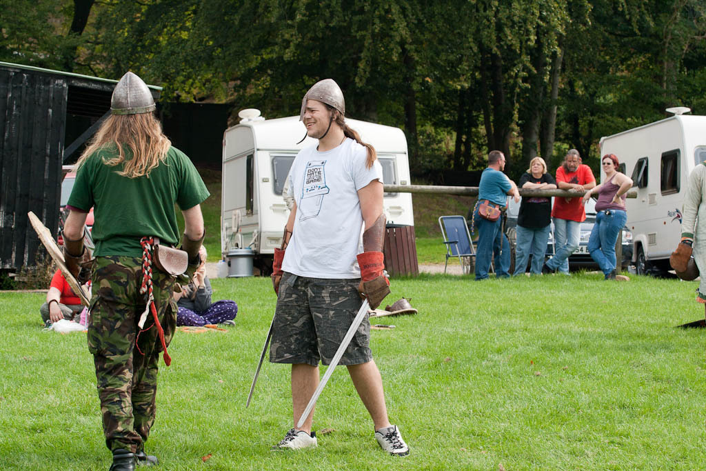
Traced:
<svg viewBox="0 0 706 471">
<path fill-rule="evenodd" d="M 77 163 L 64 257 L 78 275 L 83 225 L 93 207 L 88 350 L 105 441 L 113 453 L 110 470 L 131 471 L 157 463 L 145 454 L 144 443 L 155 420 L 157 361 L 163 351 L 169 364 L 167 345 L 177 322 L 174 278 L 151 263 L 152 248 L 179 242 L 177 203 L 185 222 L 182 247 L 195 269 L 204 233 L 200 204 L 209 193 L 189 157 L 162 133 L 150 90 L 134 73 L 116 85 L 111 109 Z"/>
</svg>

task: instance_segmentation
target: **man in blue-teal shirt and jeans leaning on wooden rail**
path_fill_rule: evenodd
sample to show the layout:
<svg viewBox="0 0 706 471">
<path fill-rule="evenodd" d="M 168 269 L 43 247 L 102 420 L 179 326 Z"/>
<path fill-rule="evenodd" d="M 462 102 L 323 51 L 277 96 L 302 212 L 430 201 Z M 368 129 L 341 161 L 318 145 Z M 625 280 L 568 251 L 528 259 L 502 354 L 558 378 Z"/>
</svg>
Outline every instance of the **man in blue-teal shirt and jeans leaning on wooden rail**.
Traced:
<svg viewBox="0 0 706 471">
<path fill-rule="evenodd" d="M 510 244 L 503 234 L 502 217 L 491 221 L 478 213 L 479 203 L 488 201 L 490 204 L 505 208 L 507 195 L 513 195 L 515 203 L 520 202 L 520 192 L 517 185 L 503 173 L 505 155 L 500 150 L 488 154 L 488 168 L 481 175 L 478 188 L 478 202 L 473 211 L 474 227 L 478 229 L 476 245 L 476 280 L 488 278 L 490 263 L 495 256 L 495 274 L 498 278 L 507 278 L 510 270 Z"/>
</svg>

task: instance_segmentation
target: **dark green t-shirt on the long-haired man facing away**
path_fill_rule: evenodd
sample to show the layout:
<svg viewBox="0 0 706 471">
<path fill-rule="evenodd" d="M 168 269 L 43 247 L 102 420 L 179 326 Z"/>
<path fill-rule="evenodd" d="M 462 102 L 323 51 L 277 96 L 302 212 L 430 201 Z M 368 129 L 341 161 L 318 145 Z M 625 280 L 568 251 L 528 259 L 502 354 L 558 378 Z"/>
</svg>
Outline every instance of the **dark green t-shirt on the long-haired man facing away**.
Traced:
<svg viewBox="0 0 706 471">
<path fill-rule="evenodd" d="M 102 149 L 90 155 L 78 169 L 68 198 L 68 205 L 75 208 L 94 208 L 94 255 L 139 257 L 144 236 L 177 244 L 181 234 L 174 203 L 187 210 L 210 195 L 196 167 L 172 147 L 149 177 L 128 178 L 118 174 L 123 164 L 104 163 L 114 154 L 114 150 Z"/>
</svg>

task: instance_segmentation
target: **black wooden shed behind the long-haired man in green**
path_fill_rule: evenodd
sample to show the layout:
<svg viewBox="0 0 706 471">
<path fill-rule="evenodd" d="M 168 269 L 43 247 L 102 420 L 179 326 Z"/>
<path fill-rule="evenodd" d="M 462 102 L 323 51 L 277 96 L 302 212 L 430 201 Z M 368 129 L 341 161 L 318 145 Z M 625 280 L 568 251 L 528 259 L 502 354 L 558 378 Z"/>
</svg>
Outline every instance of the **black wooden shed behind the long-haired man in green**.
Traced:
<svg viewBox="0 0 706 471">
<path fill-rule="evenodd" d="M 28 211 L 56 235 L 61 165 L 107 117 L 116 83 L 0 62 L 0 269 L 35 265 L 40 242 Z M 156 100 L 162 88 L 150 90 Z"/>
</svg>

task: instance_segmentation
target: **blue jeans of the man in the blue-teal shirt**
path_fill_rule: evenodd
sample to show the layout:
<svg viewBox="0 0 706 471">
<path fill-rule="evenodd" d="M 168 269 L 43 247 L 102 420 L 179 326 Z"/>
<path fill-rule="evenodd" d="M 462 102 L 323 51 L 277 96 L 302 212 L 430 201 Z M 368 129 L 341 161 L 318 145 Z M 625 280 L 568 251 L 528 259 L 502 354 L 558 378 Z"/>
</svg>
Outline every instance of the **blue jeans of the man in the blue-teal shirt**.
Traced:
<svg viewBox="0 0 706 471">
<path fill-rule="evenodd" d="M 497 221 L 489 221 L 474 215 L 475 227 L 478 229 L 478 242 L 476 243 L 476 280 L 488 278 L 491 260 L 495 262 L 497 278 L 510 276 L 510 242 L 502 231 L 502 217 Z"/>
</svg>

